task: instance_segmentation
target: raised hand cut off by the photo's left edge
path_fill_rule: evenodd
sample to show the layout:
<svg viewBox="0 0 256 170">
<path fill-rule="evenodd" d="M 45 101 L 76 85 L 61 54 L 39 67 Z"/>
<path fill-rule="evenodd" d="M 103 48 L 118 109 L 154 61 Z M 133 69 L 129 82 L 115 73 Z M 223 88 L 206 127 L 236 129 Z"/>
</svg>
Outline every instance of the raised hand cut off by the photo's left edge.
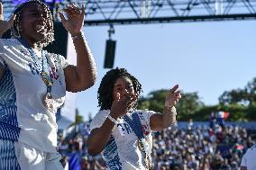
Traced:
<svg viewBox="0 0 256 170">
<path fill-rule="evenodd" d="M 3 4 L 0 2 L 0 35 L 3 35 L 5 31 L 9 30 L 13 26 L 15 20 L 15 15 L 12 15 L 9 21 L 5 21 L 3 8 Z"/>
</svg>

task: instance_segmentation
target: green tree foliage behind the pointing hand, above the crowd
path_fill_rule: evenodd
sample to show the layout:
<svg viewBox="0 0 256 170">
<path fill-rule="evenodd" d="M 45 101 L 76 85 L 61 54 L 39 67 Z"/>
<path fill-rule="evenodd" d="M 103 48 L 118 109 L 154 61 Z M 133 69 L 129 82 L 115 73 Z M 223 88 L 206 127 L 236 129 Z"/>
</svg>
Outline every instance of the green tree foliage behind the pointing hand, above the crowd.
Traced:
<svg viewBox="0 0 256 170">
<path fill-rule="evenodd" d="M 143 96 L 139 100 L 138 109 L 162 112 L 167 91 L 156 90 Z M 256 121 L 256 78 L 243 88 L 225 91 L 216 105 L 205 105 L 197 93 L 181 94 L 182 98 L 176 106 L 179 121 L 208 121 L 210 113 L 218 111 L 230 112 L 228 121 Z"/>
</svg>

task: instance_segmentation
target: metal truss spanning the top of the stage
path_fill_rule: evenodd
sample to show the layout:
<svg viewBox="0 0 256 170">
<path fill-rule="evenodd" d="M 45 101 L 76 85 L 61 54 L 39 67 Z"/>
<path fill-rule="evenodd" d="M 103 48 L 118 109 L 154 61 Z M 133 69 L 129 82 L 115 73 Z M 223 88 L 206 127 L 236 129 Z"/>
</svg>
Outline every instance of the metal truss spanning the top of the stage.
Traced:
<svg viewBox="0 0 256 170">
<path fill-rule="evenodd" d="M 57 1 L 56 1 L 57 2 Z M 66 4 L 86 5 L 86 25 L 253 20 L 256 0 L 63 0 L 51 3 L 54 19 Z M 14 5 L 4 1 L 6 13 Z"/>
</svg>

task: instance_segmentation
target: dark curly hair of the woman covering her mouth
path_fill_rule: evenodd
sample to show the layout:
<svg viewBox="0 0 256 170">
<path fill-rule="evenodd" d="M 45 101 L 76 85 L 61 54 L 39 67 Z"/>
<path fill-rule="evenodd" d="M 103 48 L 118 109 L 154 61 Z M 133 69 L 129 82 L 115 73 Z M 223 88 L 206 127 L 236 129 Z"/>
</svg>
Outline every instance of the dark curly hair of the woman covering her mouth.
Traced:
<svg viewBox="0 0 256 170">
<path fill-rule="evenodd" d="M 113 98 L 113 90 L 115 81 L 121 77 L 126 76 L 128 77 L 133 83 L 133 90 L 134 93 L 140 97 L 142 93 L 142 85 L 140 82 L 132 76 L 125 68 L 116 67 L 114 69 L 109 70 L 106 72 L 105 76 L 102 78 L 101 83 L 99 85 L 97 91 L 97 99 L 98 99 L 98 106 L 100 110 L 110 110 L 111 105 L 114 101 Z M 133 105 L 133 109 L 136 108 L 137 103 Z"/>
</svg>

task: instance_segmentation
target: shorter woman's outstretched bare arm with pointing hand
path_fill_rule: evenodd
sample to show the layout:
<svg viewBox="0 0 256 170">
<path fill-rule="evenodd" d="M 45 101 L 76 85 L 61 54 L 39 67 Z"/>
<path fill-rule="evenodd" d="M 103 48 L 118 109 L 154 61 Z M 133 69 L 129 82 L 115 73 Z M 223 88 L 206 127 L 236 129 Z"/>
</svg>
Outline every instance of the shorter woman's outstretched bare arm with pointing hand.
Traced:
<svg viewBox="0 0 256 170">
<path fill-rule="evenodd" d="M 181 94 L 177 90 L 178 85 L 175 85 L 167 93 L 162 114 L 156 113 L 151 115 L 151 130 L 163 130 L 176 122 L 177 112 L 174 106 L 178 103 L 178 100 L 181 98 Z"/>
</svg>

